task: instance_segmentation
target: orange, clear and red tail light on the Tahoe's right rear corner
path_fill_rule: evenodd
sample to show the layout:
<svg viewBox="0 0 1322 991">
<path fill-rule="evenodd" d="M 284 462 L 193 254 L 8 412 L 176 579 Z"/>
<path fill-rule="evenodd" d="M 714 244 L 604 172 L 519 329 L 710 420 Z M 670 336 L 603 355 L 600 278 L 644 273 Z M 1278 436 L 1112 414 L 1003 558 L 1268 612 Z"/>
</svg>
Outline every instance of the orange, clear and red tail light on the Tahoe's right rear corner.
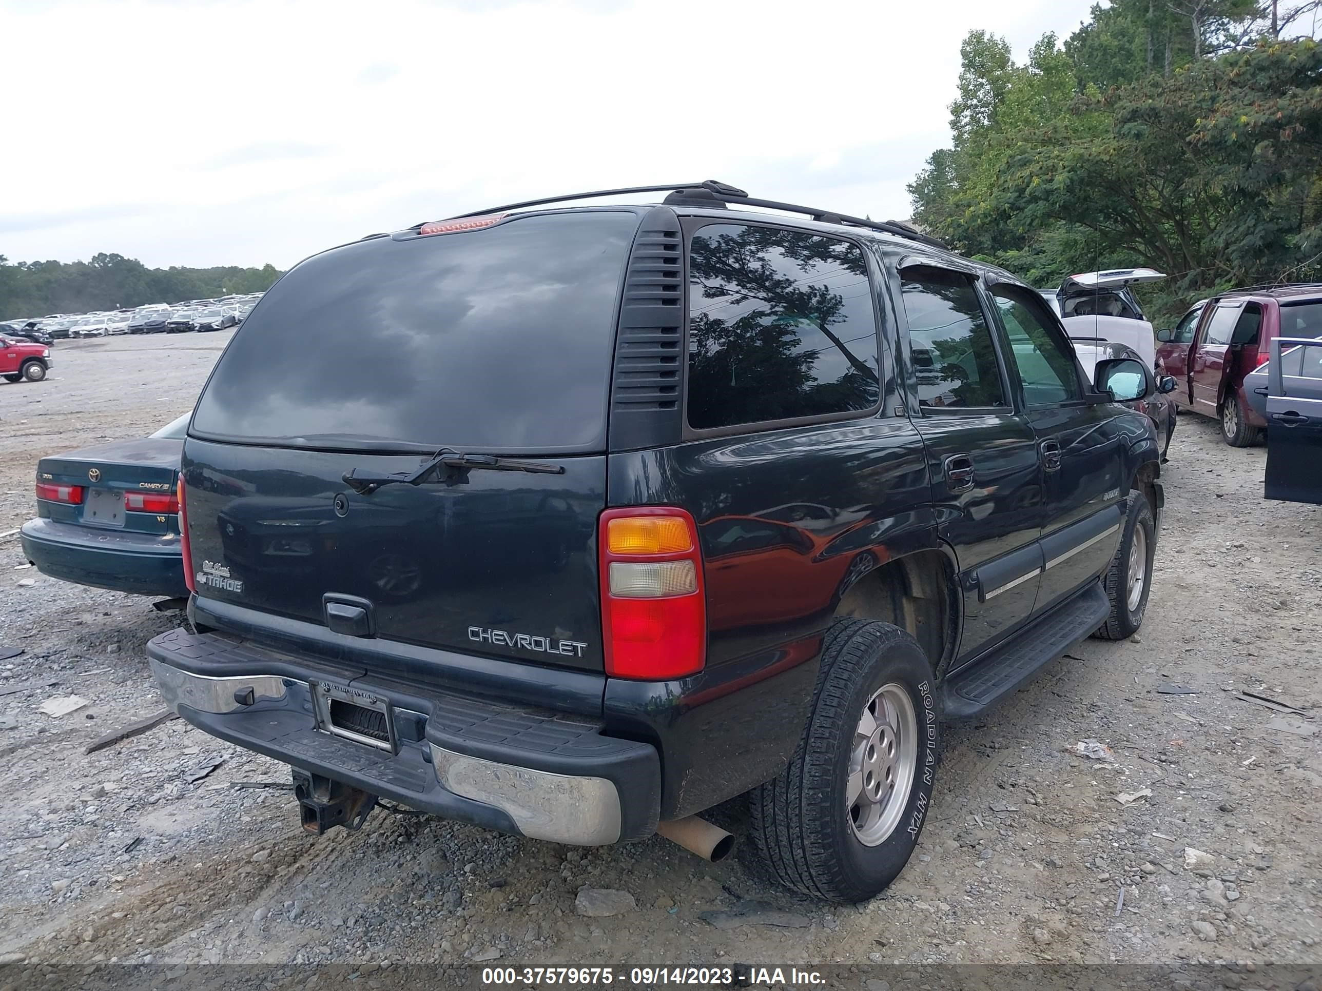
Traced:
<svg viewBox="0 0 1322 991">
<path fill-rule="evenodd" d="M 701 671 L 707 603 L 693 517 L 668 506 L 607 510 L 598 542 L 605 673 L 665 680 Z"/>
</svg>

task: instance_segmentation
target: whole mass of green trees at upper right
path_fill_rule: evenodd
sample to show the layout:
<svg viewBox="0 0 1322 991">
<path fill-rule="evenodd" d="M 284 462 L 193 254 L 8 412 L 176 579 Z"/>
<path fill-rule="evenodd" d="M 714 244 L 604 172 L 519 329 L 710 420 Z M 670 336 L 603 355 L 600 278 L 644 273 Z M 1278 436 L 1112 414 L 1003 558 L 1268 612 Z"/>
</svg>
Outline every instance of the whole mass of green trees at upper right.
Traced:
<svg viewBox="0 0 1322 991">
<path fill-rule="evenodd" d="M 1112 0 L 1023 65 L 970 32 L 952 145 L 914 219 L 1038 285 L 1150 264 L 1158 313 L 1231 284 L 1322 277 L 1322 0 Z M 1155 304 L 1155 305 L 1153 305 Z"/>
</svg>

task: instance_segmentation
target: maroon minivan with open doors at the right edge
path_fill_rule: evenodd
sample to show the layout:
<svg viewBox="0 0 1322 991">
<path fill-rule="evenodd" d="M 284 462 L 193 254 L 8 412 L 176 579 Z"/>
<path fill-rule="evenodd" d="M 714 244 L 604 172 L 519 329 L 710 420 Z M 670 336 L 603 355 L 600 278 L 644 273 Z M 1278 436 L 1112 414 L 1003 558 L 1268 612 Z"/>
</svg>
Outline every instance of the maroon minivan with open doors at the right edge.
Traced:
<svg viewBox="0 0 1322 991">
<path fill-rule="evenodd" d="M 1244 448 L 1266 427 L 1244 395 L 1244 377 L 1277 337 L 1322 337 L 1322 285 L 1236 289 L 1188 309 L 1157 333 L 1158 374 L 1174 375 L 1181 410 L 1215 416 L 1222 439 Z"/>
</svg>

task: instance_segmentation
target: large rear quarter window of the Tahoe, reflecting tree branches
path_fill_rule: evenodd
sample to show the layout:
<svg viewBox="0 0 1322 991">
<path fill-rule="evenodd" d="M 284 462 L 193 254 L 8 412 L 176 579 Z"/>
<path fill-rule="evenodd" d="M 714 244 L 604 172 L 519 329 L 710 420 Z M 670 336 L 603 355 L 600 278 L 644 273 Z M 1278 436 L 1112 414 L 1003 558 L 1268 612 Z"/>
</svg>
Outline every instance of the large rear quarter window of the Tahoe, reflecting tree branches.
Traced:
<svg viewBox="0 0 1322 991">
<path fill-rule="evenodd" d="M 873 410 L 876 317 L 855 244 L 713 223 L 689 255 L 689 425 Z"/>
</svg>

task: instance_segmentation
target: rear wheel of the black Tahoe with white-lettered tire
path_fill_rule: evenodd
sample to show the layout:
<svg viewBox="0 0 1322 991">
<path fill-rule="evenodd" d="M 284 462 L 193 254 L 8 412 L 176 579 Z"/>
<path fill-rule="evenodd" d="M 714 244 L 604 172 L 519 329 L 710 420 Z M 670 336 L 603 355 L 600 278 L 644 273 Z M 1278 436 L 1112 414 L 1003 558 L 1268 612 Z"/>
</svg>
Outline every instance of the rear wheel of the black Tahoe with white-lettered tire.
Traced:
<svg viewBox="0 0 1322 991">
<path fill-rule="evenodd" d="M 795 756 L 750 793 L 751 832 L 777 880 L 836 902 L 867 901 L 895 880 L 932 802 L 932 682 L 904 630 L 869 620 L 832 626 Z"/>
</svg>

